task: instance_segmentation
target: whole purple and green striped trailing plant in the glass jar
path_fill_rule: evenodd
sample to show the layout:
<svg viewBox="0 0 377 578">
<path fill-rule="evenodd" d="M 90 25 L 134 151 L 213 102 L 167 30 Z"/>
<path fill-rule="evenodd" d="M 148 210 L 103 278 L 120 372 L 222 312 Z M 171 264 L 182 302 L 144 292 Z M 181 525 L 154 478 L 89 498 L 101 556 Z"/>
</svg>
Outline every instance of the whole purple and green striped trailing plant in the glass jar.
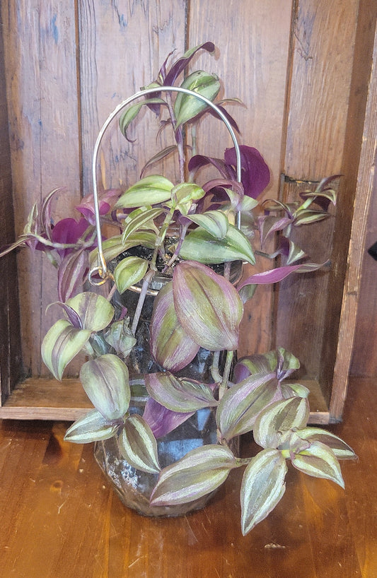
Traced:
<svg viewBox="0 0 377 578">
<path fill-rule="evenodd" d="M 291 380 L 299 367 L 294 355 L 277 348 L 234 362 L 244 304 L 257 285 L 324 265 L 312 263 L 291 233 L 330 216 L 328 208 L 336 201 L 332 181 L 340 175 L 323 179 L 315 191 L 301 194 L 300 202 L 265 201 L 260 207 L 257 197 L 269 183 L 269 169 L 255 148 L 228 148 L 221 159 L 199 154 L 196 131 L 204 115 L 219 117 L 220 112 L 221 120 L 238 132 L 226 110 L 238 100 L 217 98 L 220 82 L 214 74 L 199 70 L 182 79 L 202 50 L 213 52 L 214 45 L 206 42 L 172 63 L 170 54 L 143 99 L 120 109 L 124 138 L 129 139 L 131 124 L 145 109 L 157 117 L 159 131 L 172 134 L 172 144 L 149 160 L 139 181 L 126 191 L 102 191 L 97 203 L 88 196 L 78 207 L 80 220 L 66 218 L 54 226 L 52 201 L 59 191 L 53 191 L 41 208 L 33 208 L 24 234 L 4 253 L 28 244 L 44 250 L 57 267 L 62 319 L 42 343 L 42 358 L 54 377 L 62 379 L 80 352 L 87 356 L 80 379 L 94 408 L 69 427 L 66 440 L 115 438 L 131 466 L 156 476 L 150 496 L 154 507 L 194 502 L 216 490 L 231 470 L 245 468 L 240 490 L 245 534 L 282 498 L 287 462 L 343 487 L 339 460 L 354 458 L 339 437 L 308 427 L 308 389 Z M 177 160 L 178 182 L 152 171 L 168 158 Z M 198 184 L 204 166 L 216 175 Z M 95 236 L 95 225 L 103 223 L 110 223 L 114 235 Z M 267 240 L 275 236 L 277 246 L 268 253 Z M 255 266 L 257 259 L 269 259 L 271 267 L 231 282 L 233 261 Z M 93 283 L 96 276 L 98 283 L 108 282 L 107 293 L 82 289 L 89 270 Z M 156 276 L 165 276 L 166 282 L 154 298 L 149 325 L 153 365 L 140 376 L 149 397 L 139 415 L 130 411 L 129 376 Z M 135 288 L 139 297 L 132 309 L 127 295 Z M 209 354 L 209 382 L 185 372 L 201 351 Z M 191 449 L 161 467 L 156 438 L 202 408 L 216 414 L 217 443 Z M 260 452 L 240 458 L 233 441 L 250 432 Z"/>
</svg>

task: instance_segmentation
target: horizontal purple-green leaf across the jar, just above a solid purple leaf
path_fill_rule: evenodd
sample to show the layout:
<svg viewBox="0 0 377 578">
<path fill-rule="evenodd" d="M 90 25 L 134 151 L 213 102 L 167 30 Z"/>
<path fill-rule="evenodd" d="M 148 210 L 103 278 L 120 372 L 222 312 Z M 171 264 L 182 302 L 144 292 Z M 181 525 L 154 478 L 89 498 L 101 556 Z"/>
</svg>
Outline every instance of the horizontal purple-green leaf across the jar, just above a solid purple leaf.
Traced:
<svg viewBox="0 0 377 578">
<path fill-rule="evenodd" d="M 146 374 L 144 379 L 149 395 L 171 411 L 190 413 L 219 404 L 206 384 L 193 379 L 178 379 L 163 372 Z"/>
</svg>

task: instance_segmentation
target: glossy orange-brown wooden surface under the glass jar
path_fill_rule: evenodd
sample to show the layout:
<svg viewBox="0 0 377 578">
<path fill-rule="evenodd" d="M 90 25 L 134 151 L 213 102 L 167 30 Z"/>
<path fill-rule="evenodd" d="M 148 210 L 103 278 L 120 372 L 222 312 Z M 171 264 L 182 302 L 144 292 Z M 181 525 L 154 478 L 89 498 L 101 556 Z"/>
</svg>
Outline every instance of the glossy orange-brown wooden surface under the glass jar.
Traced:
<svg viewBox="0 0 377 578">
<path fill-rule="evenodd" d="M 201 512 L 148 519 L 125 509 L 92 447 L 66 423 L 0 422 L 2 578 L 377 577 L 377 379 L 351 380 L 342 424 L 359 455 L 346 490 L 289 469 L 282 502 L 240 533 L 240 471 Z"/>
</svg>

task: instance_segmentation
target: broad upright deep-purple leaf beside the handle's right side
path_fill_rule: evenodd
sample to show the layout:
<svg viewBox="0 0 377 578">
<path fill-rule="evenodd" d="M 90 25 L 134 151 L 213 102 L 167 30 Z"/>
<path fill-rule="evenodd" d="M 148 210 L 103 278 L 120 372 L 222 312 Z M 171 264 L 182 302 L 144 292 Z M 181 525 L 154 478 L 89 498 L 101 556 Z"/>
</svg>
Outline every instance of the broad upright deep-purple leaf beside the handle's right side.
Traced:
<svg viewBox="0 0 377 578">
<path fill-rule="evenodd" d="M 236 149 L 227 148 L 224 154 L 227 165 L 236 168 Z M 256 199 L 269 184 L 269 168 L 256 148 L 240 146 L 241 180 L 245 194 Z"/>
</svg>

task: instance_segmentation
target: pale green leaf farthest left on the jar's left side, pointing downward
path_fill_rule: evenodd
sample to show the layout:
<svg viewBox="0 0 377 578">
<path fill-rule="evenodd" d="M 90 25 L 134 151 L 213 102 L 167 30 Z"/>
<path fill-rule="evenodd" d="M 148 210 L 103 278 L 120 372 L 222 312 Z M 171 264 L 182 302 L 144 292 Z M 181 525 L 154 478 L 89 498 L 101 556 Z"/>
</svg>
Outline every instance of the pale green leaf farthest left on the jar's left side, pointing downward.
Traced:
<svg viewBox="0 0 377 578">
<path fill-rule="evenodd" d="M 59 381 L 69 362 L 88 343 L 91 331 L 76 329 L 66 319 L 59 319 L 42 341 L 42 360 Z"/>
</svg>

